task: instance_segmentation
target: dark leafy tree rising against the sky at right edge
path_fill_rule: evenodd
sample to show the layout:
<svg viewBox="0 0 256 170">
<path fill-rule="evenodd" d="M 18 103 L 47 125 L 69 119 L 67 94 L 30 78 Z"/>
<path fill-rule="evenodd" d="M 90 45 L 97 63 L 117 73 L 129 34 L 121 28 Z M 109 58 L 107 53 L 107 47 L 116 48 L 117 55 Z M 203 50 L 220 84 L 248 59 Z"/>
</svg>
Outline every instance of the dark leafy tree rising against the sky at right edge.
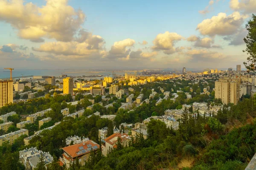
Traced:
<svg viewBox="0 0 256 170">
<path fill-rule="evenodd" d="M 256 15 L 253 14 L 252 20 L 249 20 L 245 25 L 245 28 L 248 30 L 244 42 L 246 44 L 246 52 L 249 57 L 247 57 L 247 62 L 244 62 L 245 68 L 248 71 L 256 71 Z"/>
</svg>

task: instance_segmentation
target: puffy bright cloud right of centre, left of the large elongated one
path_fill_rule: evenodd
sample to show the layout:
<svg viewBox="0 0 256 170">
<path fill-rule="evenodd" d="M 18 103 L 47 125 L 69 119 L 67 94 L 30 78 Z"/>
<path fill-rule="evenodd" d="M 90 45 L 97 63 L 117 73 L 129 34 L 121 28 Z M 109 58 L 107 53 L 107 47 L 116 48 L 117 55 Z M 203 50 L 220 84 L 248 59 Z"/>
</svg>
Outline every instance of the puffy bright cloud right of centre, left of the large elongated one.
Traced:
<svg viewBox="0 0 256 170">
<path fill-rule="evenodd" d="M 151 49 L 160 51 L 163 50 L 165 54 L 172 54 L 175 53 L 175 42 L 184 40 L 184 37 L 177 33 L 166 31 L 164 34 L 158 34 L 157 37 L 154 39 L 153 43 L 154 46 Z"/>
</svg>

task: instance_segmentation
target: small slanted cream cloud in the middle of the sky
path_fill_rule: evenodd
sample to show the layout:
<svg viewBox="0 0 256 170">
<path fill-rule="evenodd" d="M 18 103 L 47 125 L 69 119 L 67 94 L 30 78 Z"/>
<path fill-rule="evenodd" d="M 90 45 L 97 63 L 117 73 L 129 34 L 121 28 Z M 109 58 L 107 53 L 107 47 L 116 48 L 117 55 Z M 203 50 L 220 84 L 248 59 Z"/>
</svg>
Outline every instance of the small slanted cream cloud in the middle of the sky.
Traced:
<svg viewBox="0 0 256 170">
<path fill-rule="evenodd" d="M 135 40 L 129 38 L 122 41 L 114 42 L 114 45 L 112 45 L 111 50 L 109 51 L 109 57 L 127 57 L 127 55 L 131 51 L 129 47 L 132 47 L 134 44 Z"/>
</svg>

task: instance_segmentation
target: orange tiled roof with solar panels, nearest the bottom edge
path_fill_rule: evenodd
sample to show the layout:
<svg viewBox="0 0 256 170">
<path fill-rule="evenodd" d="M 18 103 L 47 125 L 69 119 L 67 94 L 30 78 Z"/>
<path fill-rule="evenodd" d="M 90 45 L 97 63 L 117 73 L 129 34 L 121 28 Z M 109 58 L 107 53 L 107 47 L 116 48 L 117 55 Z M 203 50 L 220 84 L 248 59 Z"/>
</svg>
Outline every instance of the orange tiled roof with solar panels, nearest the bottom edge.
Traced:
<svg viewBox="0 0 256 170">
<path fill-rule="evenodd" d="M 94 146 L 97 146 L 97 148 L 94 149 L 93 148 Z M 67 154 L 69 154 L 72 158 L 76 158 L 76 156 L 81 156 L 81 155 L 84 155 L 86 153 L 89 153 L 91 150 L 87 150 L 88 148 L 91 148 L 91 150 L 99 149 L 99 144 L 96 144 L 95 142 L 90 140 L 90 141 L 82 142 L 81 144 L 74 144 L 74 145 L 71 145 L 71 146 L 68 146 L 68 147 L 63 147 L 62 149 Z M 85 150 L 85 152 L 81 153 L 81 154 L 77 154 L 81 150 Z"/>
</svg>

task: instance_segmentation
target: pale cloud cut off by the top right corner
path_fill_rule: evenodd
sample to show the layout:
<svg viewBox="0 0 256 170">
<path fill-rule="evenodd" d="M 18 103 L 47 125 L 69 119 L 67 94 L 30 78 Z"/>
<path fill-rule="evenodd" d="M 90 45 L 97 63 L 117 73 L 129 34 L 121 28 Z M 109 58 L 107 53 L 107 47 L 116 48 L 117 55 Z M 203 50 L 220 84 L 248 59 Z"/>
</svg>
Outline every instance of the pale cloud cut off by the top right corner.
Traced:
<svg viewBox="0 0 256 170">
<path fill-rule="evenodd" d="M 256 12 L 255 0 L 230 0 L 230 8 L 234 11 L 242 11 L 245 14 Z"/>
</svg>

